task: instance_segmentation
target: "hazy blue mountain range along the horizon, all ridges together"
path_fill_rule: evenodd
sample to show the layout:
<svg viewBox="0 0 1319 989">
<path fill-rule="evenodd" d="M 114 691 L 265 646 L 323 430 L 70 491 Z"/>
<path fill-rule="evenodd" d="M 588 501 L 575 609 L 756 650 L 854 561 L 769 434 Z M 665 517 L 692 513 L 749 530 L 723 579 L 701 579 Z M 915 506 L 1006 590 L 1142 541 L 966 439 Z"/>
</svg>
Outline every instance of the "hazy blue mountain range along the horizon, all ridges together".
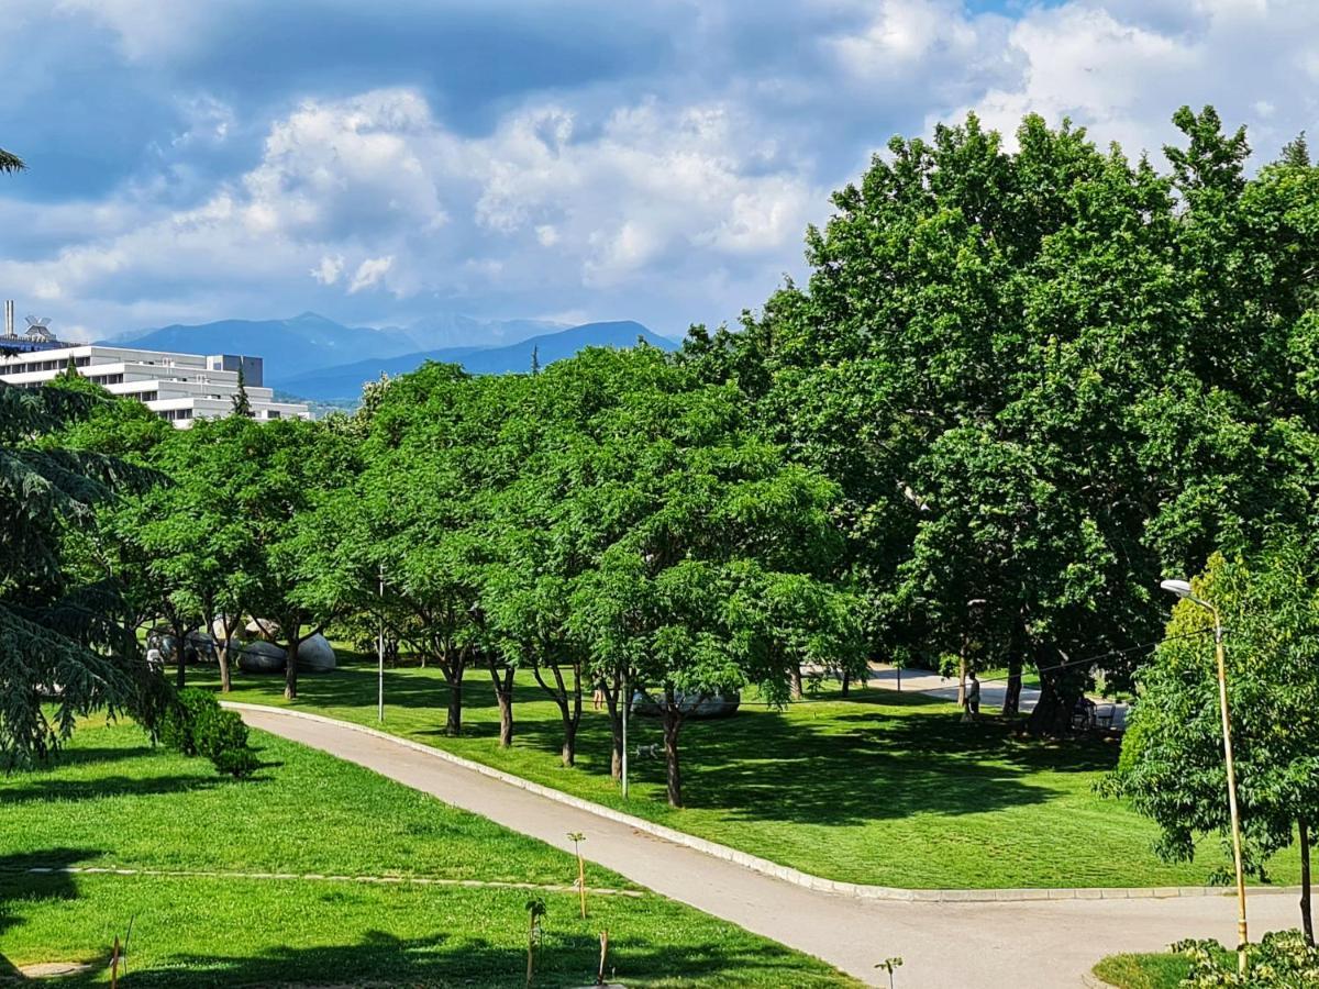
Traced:
<svg viewBox="0 0 1319 989">
<path fill-rule="evenodd" d="M 364 381 L 401 375 L 427 360 L 462 364 L 474 375 L 529 371 L 583 347 L 632 347 L 641 338 L 666 351 L 673 340 L 632 320 L 566 327 L 537 319 L 479 320 L 441 314 L 409 327 L 348 327 L 315 313 L 291 319 L 223 319 L 166 326 L 103 340 L 111 345 L 183 353 L 245 353 L 264 361 L 264 384 L 326 402 L 352 402 Z M 471 343 L 479 340 L 480 343 Z M 455 345 L 455 344 L 464 345 Z"/>
</svg>

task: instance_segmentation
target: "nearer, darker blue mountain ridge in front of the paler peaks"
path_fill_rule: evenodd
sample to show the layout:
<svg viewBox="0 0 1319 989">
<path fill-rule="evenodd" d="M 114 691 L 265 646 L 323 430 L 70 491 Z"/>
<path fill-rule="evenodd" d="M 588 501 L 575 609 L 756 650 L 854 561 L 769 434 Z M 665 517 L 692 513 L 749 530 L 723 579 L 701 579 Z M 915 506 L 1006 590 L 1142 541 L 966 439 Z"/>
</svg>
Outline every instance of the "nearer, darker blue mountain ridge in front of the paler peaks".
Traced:
<svg viewBox="0 0 1319 989">
<path fill-rule="evenodd" d="M 462 364 L 472 375 L 508 375 L 530 371 L 533 353 L 541 367 L 546 367 L 571 357 L 586 347 L 634 347 L 638 339 L 665 351 L 678 347 L 675 342 L 653 334 L 630 319 L 615 323 L 583 323 L 554 334 L 518 340 L 506 347 L 442 347 L 321 368 L 282 380 L 280 389 L 323 402 L 350 401 L 361 394 L 363 382 L 373 381 L 383 373 L 404 375 L 415 371 L 427 360 Z"/>
</svg>

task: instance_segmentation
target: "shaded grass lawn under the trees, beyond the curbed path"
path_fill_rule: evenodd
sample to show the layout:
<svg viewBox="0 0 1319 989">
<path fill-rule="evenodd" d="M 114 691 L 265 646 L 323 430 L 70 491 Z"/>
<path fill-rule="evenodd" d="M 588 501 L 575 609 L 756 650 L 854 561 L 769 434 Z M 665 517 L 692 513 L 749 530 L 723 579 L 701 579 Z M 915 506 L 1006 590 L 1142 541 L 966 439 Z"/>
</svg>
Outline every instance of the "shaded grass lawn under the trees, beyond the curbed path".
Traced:
<svg viewBox="0 0 1319 989">
<path fill-rule="evenodd" d="M 299 678 L 294 705 L 376 725 L 375 663 L 340 653 L 331 674 Z M 218 683 L 214 667 L 191 667 Z M 386 731 L 670 827 L 834 880 L 906 887 L 1200 885 L 1227 860 L 1215 840 L 1195 864 L 1150 851 L 1155 828 L 1095 781 L 1113 742 L 1016 740 L 995 719 L 968 725 L 952 704 L 909 691 L 853 690 L 774 711 L 744 703 L 731 719 L 683 728 L 689 804 L 665 802 L 663 761 L 632 761 L 632 796 L 609 778 L 603 712 L 583 715 L 578 765 L 559 765 L 558 708 L 520 676 L 516 741 L 497 748 L 499 712 L 484 670 L 464 680 L 463 737 L 443 736 L 447 690 L 437 670 L 385 671 Z M 233 700 L 284 704 L 282 676 L 235 674 Z M 753 700 L 753 699 L 751 699 Z M 662 741 L 634 717 L 629 742 Z M 633 748 L 634 752 L 634 748 Z M 1297 858 L 1274 862 L 1295 882 Z"/>
</svg>

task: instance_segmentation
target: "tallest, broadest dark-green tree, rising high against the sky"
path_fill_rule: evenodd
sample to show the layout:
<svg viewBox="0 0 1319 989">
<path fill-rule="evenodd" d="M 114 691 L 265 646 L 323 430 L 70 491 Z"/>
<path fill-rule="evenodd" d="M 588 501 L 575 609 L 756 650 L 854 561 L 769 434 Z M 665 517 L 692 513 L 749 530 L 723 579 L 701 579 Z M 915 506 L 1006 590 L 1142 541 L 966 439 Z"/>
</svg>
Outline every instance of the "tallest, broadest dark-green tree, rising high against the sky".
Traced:
<svg viewBox="0 0 1319 989">
<path fill-rule="evenodd" d="M 1170 175 L 1038 117 L 1014 152 L 973 116 L 896 138 L 807 285 L 685 348 L 840 485 L 872 649 L 1033 661 L 1039 732 L 1151 637 L 1162 568 L 1308 512 L 1316 173 L 1248 178 L 1212 109 L 1175 123 Z"/>
</svg>

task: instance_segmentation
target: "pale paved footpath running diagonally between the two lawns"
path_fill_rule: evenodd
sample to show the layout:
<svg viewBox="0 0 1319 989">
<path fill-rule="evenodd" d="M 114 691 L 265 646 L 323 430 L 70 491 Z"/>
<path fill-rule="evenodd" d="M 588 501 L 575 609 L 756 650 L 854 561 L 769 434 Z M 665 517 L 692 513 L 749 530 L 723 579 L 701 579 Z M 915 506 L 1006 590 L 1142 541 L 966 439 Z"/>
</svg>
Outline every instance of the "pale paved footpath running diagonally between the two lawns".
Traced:
<svg viewBox="0 0 1319 989">
<path fill-rule="evenodd" d="M 933 903 L 810 890 L 348 724 L 274 708 L 241 713 L 253 728 L 356 762 L 566 852 L 572 851 L 567 833 L 580 831 L 591 861 L 873 985 L 880 984 L 874 964 L 900 955 L 902 989 L 1068 989 L 1084 985 L 1104 955 L 1166 951 L 1181 938 L 1235 938 L 1235 902 L 1225 897 Z M 1298 924 L 1293 897 L 1252 897 L 1253 938 Z"/>
</svg>

